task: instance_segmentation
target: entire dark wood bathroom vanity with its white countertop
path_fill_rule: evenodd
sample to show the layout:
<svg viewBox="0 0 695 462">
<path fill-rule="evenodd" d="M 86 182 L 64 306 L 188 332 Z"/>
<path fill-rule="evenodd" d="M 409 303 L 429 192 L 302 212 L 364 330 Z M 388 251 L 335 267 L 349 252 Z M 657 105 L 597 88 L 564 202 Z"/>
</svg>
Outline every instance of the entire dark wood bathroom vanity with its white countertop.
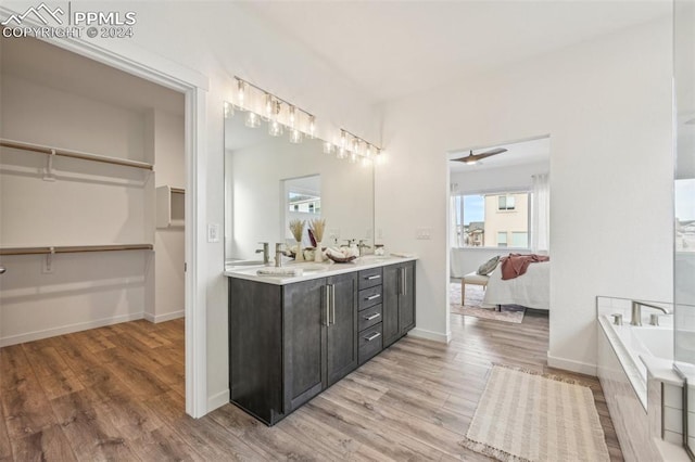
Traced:
<svg viewBox="0 0 695 462">
<path fill-rule="evenodd" d="M 231 402 L 274 425 L 415 326 L 415 258 L 356 261 L 225 271 Z"/>
</svg>

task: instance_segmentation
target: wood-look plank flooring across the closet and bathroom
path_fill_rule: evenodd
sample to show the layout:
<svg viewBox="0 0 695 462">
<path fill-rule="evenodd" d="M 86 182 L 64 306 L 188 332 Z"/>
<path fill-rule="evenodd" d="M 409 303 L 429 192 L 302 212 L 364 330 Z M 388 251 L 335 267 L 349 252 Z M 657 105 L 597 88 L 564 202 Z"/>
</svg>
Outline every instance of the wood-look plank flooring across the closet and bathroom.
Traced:
<svg viewBox="0 0 695 462">
<path fill-rule="evenodd" d="M 546 365 L 547 315 L 452 315 L 443 345 L 405 337 L 275 427 L 184 406 L 184 321 L 134 321 L 0 349 L 0 461 L 488 460 L 459 446 L 492 362 Z M 622 460 L 596 378 L 611 460 Z M 580 454 L 578 454 L 581 457 Z"/>
</svg>

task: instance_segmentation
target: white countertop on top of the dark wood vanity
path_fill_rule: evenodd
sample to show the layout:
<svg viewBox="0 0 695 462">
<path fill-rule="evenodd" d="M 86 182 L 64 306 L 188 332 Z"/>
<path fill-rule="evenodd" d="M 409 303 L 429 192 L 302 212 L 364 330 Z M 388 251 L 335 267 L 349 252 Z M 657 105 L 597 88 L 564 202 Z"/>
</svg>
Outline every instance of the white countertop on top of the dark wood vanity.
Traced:
<svg viewBox="0 0 695 462">
<path fill-rule="evenodd" d="M 258 275 L 256 271 L 264 268 L 275 268 L 273 266 L 230 266 L 225 269 L 224 274 L 229 278 L 245 279 L 249 281 L 263 282 L 266 284 L 285 285 L 294 282 L 309 281 L 312 279 L 326 278 L 334 274 L 343 274 L 346 272 L 362 271 L 369 268 L 384 267 L 395 265 L 403 261 L 417 260 L 416 256 L 400 257 L 394 255 L 367 255 L 359 257 L 348 264 L 337 264 L 334 261 L 325 261 L 323 264 L 315 261 L 289 262 L 281 268 L 301 268 L 302 275 Z"/>
</svg>

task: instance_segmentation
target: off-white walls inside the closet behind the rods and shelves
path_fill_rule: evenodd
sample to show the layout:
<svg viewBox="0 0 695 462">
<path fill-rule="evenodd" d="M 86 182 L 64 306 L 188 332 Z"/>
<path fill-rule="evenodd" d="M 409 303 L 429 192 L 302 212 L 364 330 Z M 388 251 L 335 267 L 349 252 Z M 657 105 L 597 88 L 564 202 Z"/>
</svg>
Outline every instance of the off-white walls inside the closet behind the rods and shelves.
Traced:
<svg viewBox="0 0 695 462">
<path fill-rule="evenodd" d="M 160 133 L 157 125 L 150 124 L 155 110 L 119 104 L 93 91 L 101 75 L 90 80 L 74 62 L 70 69 L 42 74 L 36 66 L 22 68 L 4 42 L 1 138 L 156 162 L 155 169 L 178 169 L 176 175 L 182 176 L 180 115 L 160 111 L 166 127 Z M 67 84 L 64 75 L 91 81 L 92 89 L 80 94 L 75 91 L 79 85 Z M 180 104 L 182 112 L 182 95 Z M 174 133 L 177 127 L 179 132 Z M 157 144 L 163 146 L 161 155 L 153 147 Z M 166 156 L 164 150 L 174 154 Z M 47 172 L 49 157 L 0 149 L 0 247 L 155 244 L 154 171 L 54 156 Z M 176 180 L 182 185 L 182 179 Z M 180 241 L 176 252 L 182 256 Z M 140 319 L 149 312 L 148 319 L 157 319 L 156 296 L 148 296 L 159 288 L 155 259 L 151 249 L 2 255 L 0 262 L 8 271 L 0 278 L 0 346 Z M 170 282 L 172 287 L 182 287 L 182 262 L 180 267 L 181 275 Z M 182 300 L 180 307 L 169 305 L 182 316 Z"/>
</svg>

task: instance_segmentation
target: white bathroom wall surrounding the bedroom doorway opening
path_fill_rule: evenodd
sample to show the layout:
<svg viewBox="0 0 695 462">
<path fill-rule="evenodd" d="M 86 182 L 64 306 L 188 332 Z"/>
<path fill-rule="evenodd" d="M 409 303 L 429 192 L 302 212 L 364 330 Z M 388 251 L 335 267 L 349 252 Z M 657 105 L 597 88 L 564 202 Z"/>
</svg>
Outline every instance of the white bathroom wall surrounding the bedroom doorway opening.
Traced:
<svg viewBox="0 0 695 462">
<path fill-rule="evenodd" d="M 377 169 L 377 229 L 421 256 L 415 333 L 448 334 L 446 151 L 541 133 L 552 139 L 549 363 L 595 372 L 596 295 L 670 300 L 670 84 L 665 18 L 388 104 L 384 144 L 399 162 Z M 431 241 L 403 229 L 413 216 Z"/>
</svg>

